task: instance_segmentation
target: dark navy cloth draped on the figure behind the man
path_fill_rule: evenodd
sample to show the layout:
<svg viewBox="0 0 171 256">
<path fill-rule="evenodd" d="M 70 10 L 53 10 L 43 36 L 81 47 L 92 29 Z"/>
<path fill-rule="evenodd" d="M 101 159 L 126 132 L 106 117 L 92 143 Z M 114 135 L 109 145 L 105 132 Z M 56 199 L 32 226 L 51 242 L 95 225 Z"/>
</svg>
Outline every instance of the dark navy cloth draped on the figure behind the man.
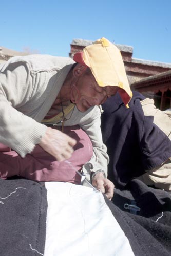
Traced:
<svg viewBox="0 0 171 256">
<path fill-rule="evenodd" d="M 153 116 L 144 115 L 143 99 L 133 92 L 127 109 L 117 93 L 102 105 L 101 130 L 110 158 L 108 178 L 116 187 L 123 188 L 171 156 L 171 141 L 153 123 Z"/>
</svg>

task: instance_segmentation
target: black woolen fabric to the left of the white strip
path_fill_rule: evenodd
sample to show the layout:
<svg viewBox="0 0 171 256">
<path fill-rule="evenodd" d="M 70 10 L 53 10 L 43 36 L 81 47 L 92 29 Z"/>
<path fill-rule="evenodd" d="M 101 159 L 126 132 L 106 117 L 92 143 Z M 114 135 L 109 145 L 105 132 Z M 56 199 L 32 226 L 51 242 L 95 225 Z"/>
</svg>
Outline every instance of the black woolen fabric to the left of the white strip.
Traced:
<svg viewBox="0 0 171 256">
<path fill-rule="evenodd" d="M 33 256 L 44 253 L 46 195 L 44 183 L 0 179 L 0 255 Z"/>
</svg>

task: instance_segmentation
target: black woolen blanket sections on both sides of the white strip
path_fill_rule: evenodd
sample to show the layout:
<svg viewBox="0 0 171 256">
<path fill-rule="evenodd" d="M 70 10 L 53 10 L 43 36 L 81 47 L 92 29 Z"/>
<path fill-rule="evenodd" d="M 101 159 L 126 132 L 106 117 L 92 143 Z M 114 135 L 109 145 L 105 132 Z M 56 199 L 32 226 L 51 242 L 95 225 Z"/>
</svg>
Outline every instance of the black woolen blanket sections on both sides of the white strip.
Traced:
<svg viewBox="0 0 171 256">
<path fill-rule="evenodd" d="M 0 197 L 0 255 L 44 255 L 48 207 L 44 183 L 25 179 L 0 180 Z M 135 179 L 129 183 L 129 189 L 115 189 L 113 202 L 106 197 L 105 201 L 128 238 L 134 255 L 170 255 L 171 203 L 169 193 L 148 188 Z M 125 209 L 125 204 L 139 207 L 137 215 L 130 212 L 131 207 Z M 105 236 L 105 230 L 103 234 Z M 94 238 L 94 241 L 96 239 L 98 237 Z M 84 255 L 84 248 L 82 255 Z"/>
</svg>

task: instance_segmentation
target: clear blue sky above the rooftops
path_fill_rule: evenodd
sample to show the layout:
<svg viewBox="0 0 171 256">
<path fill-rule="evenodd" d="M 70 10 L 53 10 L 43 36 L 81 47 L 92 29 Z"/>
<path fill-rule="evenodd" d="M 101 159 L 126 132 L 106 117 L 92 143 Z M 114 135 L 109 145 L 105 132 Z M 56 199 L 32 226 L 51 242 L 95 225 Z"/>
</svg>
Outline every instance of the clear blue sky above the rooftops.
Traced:
<svg viewBox="0 0 171 256">
<path fill-rule="evenodd" d="M 133 57 L 171 62 L 170 0 L 0 1 L 0 46 L 68 56 L 73 39 L 106 37 Z"/>
</svg>

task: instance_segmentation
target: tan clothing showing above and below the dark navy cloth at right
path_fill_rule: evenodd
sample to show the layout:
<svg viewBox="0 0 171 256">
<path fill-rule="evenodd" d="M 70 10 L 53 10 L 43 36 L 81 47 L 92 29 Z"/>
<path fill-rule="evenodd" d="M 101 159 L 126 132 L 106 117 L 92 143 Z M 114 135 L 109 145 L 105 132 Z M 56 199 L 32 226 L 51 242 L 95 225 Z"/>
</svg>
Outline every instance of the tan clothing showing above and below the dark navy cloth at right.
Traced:
<svg viewBox="0 0 171 256">
<path fill-rule="evenodd" d="M 141 101 L 145 116 L 154 116 L 154 123 L 171 140 L 171 110 L 161 111 L 154 105 L 154 100 L 146 98 Z M 162 154 L 162 152 L 161 152 Z M 171 156 L 170 156 L 171 157 Z M 168 159 L 162 165 L 149 170 L 139 177 L 146 185 L 154 185 L 156 188 L 171 191 L 171 161 Z"/>
</svg>

